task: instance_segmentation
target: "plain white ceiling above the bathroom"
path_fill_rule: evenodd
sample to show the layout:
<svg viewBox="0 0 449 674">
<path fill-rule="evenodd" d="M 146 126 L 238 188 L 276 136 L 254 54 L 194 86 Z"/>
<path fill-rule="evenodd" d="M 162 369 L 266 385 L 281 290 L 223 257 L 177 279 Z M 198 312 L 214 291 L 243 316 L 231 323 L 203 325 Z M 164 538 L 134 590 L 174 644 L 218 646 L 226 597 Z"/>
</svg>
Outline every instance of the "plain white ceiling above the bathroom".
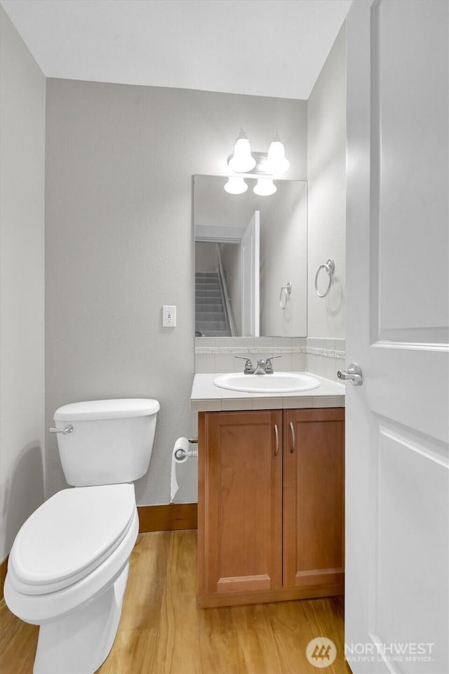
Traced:
<svg viewBox="0 0 449 674">
<path fill-rule="evenodd" d="M 46 77 L 309 98 L 352 0 L 1 0 Z"/>
</svg>

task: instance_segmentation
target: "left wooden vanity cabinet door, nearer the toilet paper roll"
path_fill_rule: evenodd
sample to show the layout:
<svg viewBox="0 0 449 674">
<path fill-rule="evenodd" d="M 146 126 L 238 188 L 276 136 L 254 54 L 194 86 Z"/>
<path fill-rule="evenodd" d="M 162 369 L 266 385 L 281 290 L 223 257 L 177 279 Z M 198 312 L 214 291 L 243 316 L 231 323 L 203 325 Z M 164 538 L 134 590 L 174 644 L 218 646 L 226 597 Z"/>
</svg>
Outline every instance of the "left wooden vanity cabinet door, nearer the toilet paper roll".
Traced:
<svg viewBox="0 0 449 674">
<path fill-rule="evenodd" d="M 200 414 L 200 598 L 281 588 L 281 550 L 282 411 Z"/>
</svg>

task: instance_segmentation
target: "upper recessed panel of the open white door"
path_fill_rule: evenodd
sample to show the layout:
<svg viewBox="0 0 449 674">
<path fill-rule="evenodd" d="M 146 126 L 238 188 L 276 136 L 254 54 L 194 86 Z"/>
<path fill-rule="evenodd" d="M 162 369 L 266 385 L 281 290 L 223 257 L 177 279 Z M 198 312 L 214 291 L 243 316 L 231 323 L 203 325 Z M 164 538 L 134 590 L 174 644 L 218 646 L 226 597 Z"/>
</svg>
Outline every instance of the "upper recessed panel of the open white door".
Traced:
<svg viewBox="0 0 449 674">
<path fill-rule="evenodd" d="M 436 11 L 435 6 L 430 5 L 431 0 L 429 12 Z M 408 13 L 415 13 L 415 18 L 409 21 Z M 439 176 L 441 173 L 447 184 L 448 153 L 438 147 L 440 136 L 444 137 L 445 114 L 449 112 L 447 103 L 446 110 L 441 112 L 438 112 L 441 105 L 431 107 L 431 96 L 429 101 L 422 103 L 422 98 L 431 93 L 431 84 L 427 80 L 436 77 L 434 71 L 441 71 L 438 55 L 427 55 L 427 72 L 417 53 L 422 41 L 425 43 L 431 36 L 426 18 L 425 7 L 418 1 L 407 11 L 398 8 L 397 3 L 385 3 L 384 0 L 375 0 L 370 8 L 371 344 L 384 341 L 419 345 L 449 343 L 449 311 L 446 308 L 449 305 L 449 275 L 444 253 L 449 244 L 449 209 L 444 202 L 445 188 L 440 185 Z M 401 32 L 407 33 L 409 27 L 413 32 L 410 44 L 416 41 L 415 50 L 407 41 L 401 43 L 402 36 L 396 30 L 400 22 Z M 402 25 L 403 22 L 406 25 Z M 403 46 L 398 47 L 400 44 Z M 413 70 L 418 71 L 418 93 L 410 89 L 408 81 Z M 408 115 L 410 121 L 403 119 L 401 123 L 398 119 L 401 114 L 404 118 Z M 431 119 L 428 120 L 427 115 Z M 406 126 L 405 131 L 402 126 Z M 409 127 L 416 132 L 415 136 L 407 133 Z M 410 167 L 413 161 L 416 164 L 420 161 L 436 163 L 438 168 L 432 176 L 438 174 L 439 189 L 432 189 L 431 178 L 421 166 Z M 420 176 L 423 185 L 419 184 Z M 410 230 L 409 236 L 401 230 L 404 220 Z M 419 242 L 417 246 L 413 242 L 415 238 Z M 426 267 L 425 279 L 422 277 L 423 255 L 433 261 Z M 429 285 L 431 291 L 427 293 Z"/>
</svg>

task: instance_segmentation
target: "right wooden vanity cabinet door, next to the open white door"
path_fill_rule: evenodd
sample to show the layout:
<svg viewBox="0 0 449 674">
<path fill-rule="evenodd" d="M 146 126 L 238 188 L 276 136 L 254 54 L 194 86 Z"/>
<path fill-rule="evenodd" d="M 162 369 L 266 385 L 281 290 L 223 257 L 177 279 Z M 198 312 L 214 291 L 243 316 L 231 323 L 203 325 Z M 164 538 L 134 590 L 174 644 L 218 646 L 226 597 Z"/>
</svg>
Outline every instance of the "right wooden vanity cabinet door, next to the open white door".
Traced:
<svg viewBox="0 0 449 674">
<path fill-rule="evenodd" d="M 285 410 L 283 435 L 283 586 L 343 586 L 344 409 Z"/>
</svg>

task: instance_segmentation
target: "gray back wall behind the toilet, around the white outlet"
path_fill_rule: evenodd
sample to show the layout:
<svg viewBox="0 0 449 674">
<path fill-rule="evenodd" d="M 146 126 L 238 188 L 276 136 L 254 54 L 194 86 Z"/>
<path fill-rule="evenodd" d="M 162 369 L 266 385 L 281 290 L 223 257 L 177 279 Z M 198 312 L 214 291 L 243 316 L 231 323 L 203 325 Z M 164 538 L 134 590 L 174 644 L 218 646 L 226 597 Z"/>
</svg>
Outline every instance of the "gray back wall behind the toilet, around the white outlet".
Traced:
<svg viewBox="0 0 449 674">
<path fill-rule="evenodd" d="M 192 176 L 224 175 L 239 128 L 266 152 L 276 129 L 307 172 L 307 103 L 173 88 L 47 82 L 46 425 L 62 404 L 161 402 L 138 503 L 167 503 L 170 456 L 193 428 Z M 177 328 L 161 305 L 177 305 Z M 48 494 L 65 486 L 54 438 Z M 196 498 L 190 473 L 185 501 Z"/>
</svg>

